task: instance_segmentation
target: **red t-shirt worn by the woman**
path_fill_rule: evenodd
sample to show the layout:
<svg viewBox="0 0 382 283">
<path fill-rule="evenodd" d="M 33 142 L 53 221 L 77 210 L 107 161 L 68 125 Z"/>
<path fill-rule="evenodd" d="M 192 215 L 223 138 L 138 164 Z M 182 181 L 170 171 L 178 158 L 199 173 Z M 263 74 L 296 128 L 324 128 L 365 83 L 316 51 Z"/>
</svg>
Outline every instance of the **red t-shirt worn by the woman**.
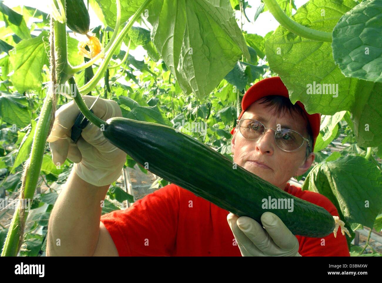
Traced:
<svg viewBox="0 0 382 283">
<path fill-rule="evenodd" d="M 286 185 L 286 192 L 338 216 L 324 195 Z M 175 184 L 101 216 L 120 256 L 241 256 L 227 222 L 229 211 Z M 296 236 L 302 256 L 349 256 L 338 229 L 324 238 Z M 322 241 L 325 239 L 325 241 Z M 325 245 L 322 245 L 325 243 Z"/>
</svg>

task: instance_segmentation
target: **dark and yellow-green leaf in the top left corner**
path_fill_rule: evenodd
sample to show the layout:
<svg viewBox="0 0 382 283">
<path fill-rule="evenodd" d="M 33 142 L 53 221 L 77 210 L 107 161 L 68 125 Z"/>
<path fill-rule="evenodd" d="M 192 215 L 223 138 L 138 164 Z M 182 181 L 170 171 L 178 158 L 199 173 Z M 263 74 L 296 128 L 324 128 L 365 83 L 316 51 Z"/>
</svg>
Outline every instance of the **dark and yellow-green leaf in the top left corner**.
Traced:
<svg viewBox="0 0 382 283">
<path fill-rule="evenodd" d="M 4 21 L 6 28 L 9 28 L 21 39 L 31 38 L 22 15 L 6 7 L 2 2 L 0 2 L 0 12 L 0 21 Z"/>
</svg>

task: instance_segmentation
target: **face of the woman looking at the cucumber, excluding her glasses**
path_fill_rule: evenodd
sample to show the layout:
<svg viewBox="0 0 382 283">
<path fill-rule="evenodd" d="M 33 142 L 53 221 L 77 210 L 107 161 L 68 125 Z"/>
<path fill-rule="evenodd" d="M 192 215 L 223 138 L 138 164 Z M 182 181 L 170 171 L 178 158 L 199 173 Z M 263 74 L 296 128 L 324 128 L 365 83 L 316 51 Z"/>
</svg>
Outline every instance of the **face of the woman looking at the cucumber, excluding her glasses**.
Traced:
<svg viewBox="0 0 382 283">
<path fill-rule="evenodd" d="M 306 131 L 308 122 L 304 117 L 295 112 L 292 116 L 289 111 L 278 117 L 278 113 L 273 109 L 257 101 L 244 112 L 241 119 L 255 119 L 262 122 L 265 127 L 274 129 L 277 129 L 277 124 L 286 125 L 308 138 Z M 258 140 L 247 140 L 239 129 L 235 128 L 231 141 L 233 161 L 283 190 L 292 176 L 304 174 L 310 168 L 315 155 L 311 153 L 305 161 L 307 142 L 296 151 L 283 151 L 275 143 L 275 132 L 270 129 L 266 131 Z"/>
</svg>

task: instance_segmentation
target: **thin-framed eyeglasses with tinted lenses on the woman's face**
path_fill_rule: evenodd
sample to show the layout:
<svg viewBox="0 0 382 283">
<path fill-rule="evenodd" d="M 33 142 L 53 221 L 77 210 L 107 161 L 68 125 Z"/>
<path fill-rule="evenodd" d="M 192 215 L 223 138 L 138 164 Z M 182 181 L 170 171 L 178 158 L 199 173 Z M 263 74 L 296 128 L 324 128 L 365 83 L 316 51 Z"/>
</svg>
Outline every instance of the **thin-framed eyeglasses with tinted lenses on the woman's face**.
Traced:
<svg viewBox="0 0 382 283">
<path fill-rule="evenodd" d="M 240 133 L 248 140 L 257 140 L 262 137 L 266 129 L 274 130 L 273 128 L 265 127 L 264 124 L 253 119 L 237 120 L 237 122 L 239 123 Z M 275 143 L 283 151 L 290 152 L 298 150 L 303 146 L 304 141 L 308 142 L 310 148 L 309 140 L 294 130 L 280 129 L 274 131 Z"/>
</svg>

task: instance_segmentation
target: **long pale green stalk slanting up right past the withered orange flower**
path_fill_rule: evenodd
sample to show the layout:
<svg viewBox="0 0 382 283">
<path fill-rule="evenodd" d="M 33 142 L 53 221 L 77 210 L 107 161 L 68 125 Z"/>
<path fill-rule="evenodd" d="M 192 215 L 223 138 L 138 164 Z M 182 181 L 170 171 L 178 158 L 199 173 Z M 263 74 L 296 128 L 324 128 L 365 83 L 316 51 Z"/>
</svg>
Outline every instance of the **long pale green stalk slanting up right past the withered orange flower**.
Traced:
<svg viewBox="0 0 382 283">
<path fill-rule="evenodd" d="M 98 81 L 102 78 L 110 59 L 112 58 L 112 55 L 115 49 L 117 49 L 117 46 L 122 42 L 123 38 L 126 36 L 129 29 L 133 26 L 135 21 L 138 20 L 143 10 L 147 7 L 147 5 L 149 5 L 151 1 L 152 0 L 146 0 L 142 4 L 142 6 L 135 12 L 133 18 L 129 21 L 129 23 L 126 24 L 125 27 L 121 30 L 121 32 L 118 34 L 117 38 L 113 42 L 112 46 L 110 47 L 110 50 L 108 50 L 107 54 L 105 55 L 105 60 L 100 65 L 95 75 L 92 77 L 90 81 L 86 83 L 86 85 L 78 88 L 81 94 L 89 93 L 97 85 Z"/>
</svg>

